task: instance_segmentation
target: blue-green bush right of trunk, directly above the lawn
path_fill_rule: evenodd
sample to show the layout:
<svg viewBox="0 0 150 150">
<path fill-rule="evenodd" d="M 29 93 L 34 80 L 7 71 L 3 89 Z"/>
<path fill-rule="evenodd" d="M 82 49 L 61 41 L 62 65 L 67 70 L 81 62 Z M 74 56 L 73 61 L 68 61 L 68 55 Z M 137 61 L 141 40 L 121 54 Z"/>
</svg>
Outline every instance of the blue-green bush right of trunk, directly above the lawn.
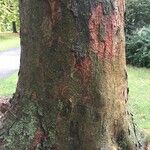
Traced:
<svg viewBox="0 0 150 150">
<path fill-rule="evenodd" d="M 126 36 L 127 63 L 138 67 L 150 67 L 150 26 Z"/>
</svg>

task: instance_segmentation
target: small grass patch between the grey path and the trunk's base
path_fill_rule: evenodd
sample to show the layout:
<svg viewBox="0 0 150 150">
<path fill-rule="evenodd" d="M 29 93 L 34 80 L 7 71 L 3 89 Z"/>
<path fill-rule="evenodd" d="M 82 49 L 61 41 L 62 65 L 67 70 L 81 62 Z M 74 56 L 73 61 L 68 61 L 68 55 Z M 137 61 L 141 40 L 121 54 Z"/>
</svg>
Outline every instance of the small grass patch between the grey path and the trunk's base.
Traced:
<svg viewBox="0 0 150 150">
<path fill-rule="evenodd" d="M 6 79 L 0 80 L 0 96 L 9 96 L 15 92 L 17 84 L 17 73 Z"/>
</svg>

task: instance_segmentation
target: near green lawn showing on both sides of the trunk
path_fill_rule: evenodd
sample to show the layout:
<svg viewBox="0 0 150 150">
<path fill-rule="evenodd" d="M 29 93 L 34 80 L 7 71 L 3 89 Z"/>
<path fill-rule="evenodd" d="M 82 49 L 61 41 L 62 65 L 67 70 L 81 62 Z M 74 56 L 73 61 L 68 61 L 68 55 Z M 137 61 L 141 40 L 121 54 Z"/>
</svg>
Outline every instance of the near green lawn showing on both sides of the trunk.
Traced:
<svg viewBox="0 0 150 150">
<path fill-rule="evenodd" d="M 150 129 L 150 69 L 128 66 L 129 109 L 140 128 Z M 0 80 L 0 96 L 15 92 L 17 74 Z"/>
</svg>

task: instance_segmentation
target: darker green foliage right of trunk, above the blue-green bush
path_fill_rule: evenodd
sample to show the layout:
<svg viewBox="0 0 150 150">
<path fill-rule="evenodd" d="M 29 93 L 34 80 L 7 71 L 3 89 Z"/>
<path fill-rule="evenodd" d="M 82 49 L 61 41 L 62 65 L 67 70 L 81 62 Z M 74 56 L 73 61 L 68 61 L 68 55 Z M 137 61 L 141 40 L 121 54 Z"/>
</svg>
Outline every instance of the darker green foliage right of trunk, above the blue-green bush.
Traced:
<svg viewBox="0 0 150 150">
<path fill-rule="evenodd" d="M 150 24 L 150 0 L 126 0 L 126 33 Z"/>
</svg>

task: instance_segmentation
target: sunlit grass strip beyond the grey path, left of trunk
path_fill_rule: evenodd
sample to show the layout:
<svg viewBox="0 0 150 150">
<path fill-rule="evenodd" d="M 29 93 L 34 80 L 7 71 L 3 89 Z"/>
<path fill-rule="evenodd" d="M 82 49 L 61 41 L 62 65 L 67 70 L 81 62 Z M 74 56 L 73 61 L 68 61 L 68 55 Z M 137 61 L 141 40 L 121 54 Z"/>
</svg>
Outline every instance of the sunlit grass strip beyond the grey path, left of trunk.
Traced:
<svg viewBox="0 0 150 150">
<path fill-rule="evenodd" d="M 0 33 L 0 51 L 10 48 L 18 48 L 20 45 L 19 34 L 16 33 Z"/>
</svg>

